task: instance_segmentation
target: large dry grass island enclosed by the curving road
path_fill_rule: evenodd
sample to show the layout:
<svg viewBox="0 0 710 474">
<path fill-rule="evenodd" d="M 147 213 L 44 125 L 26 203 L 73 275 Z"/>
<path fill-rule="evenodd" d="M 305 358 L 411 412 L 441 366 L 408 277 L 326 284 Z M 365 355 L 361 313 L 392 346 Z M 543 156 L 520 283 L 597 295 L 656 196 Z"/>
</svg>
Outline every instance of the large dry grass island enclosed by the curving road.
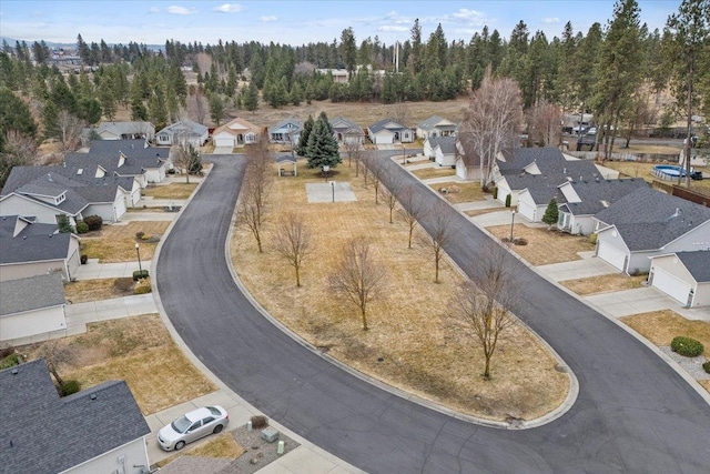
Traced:
<svg viewBox="0 0 710 474">
<path fill-rule="evenodd" d="M 348 181 L 358 201 L 307 203 L 306 182 L 323 182 L 298 164 L 297 178 L 277 179 L 268 194 L 264 253 L 251 233 L 235 229 L 231 252 L 240 278 L 264 307 L 310 343 L 346 364 L 390 385 L 493 420 L 534 418 L 565 400 L 569 381 L 556 361 L 521 326 L 504 333 L 493 361 L 493 381 L 480 377 L 479 346 L 455 331 L 446 307 L 462 276 L 447 263 L 435 284 L 433 256 L 420 244 L 407 249 L 400 221 L 388 223 L 388 210 L 375 205 L 372 186 L 363 188 L 347 164 L 336 181 Z M 302 288 L 293 269 L 271 245 L 274 223 L 286 212 L 303 216 L 314 235 L 315 253 L 302 269 Z M 334 296 L 327 279 L 349 239 L 364 235 L 388 275 L 383 299 L 368 306 L 369 331 L 356 309 Z"/>
</svg>

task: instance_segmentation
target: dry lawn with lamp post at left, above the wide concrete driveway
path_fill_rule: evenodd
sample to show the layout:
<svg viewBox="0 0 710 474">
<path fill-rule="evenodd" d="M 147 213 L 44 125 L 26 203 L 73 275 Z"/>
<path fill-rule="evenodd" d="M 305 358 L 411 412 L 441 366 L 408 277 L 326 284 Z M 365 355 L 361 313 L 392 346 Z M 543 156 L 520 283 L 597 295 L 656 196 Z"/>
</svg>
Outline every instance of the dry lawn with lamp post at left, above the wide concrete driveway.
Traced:
<svg viewBox="0 0 710 474">
<path fill-rule="evenodd" d="M 101 263 L 138 261 L 135 244 L 140 244 L 141 260 L 151 260 L 158 242 L 138 240 L 135 234 L 162 236 L 170 222 L 129 222 L 125 225 L 103 225 L 100 231 L 81 236 L 82 255 L 99 259 Z"/>
</svg>

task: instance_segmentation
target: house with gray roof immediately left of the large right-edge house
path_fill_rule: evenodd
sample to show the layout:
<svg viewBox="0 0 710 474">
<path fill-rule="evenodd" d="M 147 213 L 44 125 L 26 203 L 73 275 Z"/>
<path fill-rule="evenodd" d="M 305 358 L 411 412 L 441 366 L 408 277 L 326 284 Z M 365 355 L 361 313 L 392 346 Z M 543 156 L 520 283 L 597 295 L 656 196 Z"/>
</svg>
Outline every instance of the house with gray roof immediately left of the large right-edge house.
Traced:
<svg viewBox="0 0 710 474">
<path fill-rule="evenodd" d="M 558 201 L 557 228 L 572 234 L 589 235 L 595 230 L 595 215 L 639 188 L 648 188 L 638 178 L 625 180 L 568 181 L 558 186 L 564 200 Z M 518 198 L 520 202 L 523 198 Z M 538 211 L 539 212 L 539 211 Z M 541 210 L 545 215 L 545 210 Z"/>
</svg>

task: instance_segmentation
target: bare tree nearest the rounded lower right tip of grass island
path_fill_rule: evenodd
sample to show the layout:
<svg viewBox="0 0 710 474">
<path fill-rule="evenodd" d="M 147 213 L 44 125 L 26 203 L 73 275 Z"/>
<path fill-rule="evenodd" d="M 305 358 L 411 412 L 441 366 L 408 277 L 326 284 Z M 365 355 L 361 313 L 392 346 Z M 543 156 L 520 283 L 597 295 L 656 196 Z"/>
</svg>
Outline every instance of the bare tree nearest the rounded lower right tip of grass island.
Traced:
<svg viewBox="0 0 710 474">
<path fill-rule="evenodd" d="M 490 361 L 500 334 L 516 322 L 510 310 L 518 301 L 519 282 L 510 255 L 500 245 L 491 242 L 477 256 L 478 276 L 460 286 L 446 315 L 480 344 L 485 359 L 483 376 L 489 380 Z"/>
</svg>

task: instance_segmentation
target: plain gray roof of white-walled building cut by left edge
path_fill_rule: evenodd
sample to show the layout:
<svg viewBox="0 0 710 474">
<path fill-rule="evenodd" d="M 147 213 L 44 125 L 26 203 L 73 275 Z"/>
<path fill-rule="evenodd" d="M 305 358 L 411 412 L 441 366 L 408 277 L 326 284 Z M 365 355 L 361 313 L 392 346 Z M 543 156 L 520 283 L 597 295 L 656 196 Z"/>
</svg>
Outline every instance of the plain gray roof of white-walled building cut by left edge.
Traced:
<svg viewBox="0 0 710 474">
<path fill-rule="evenodd" d="M 0 282 L 0 316 L 65 303 L 61 273 Z"/>
</svg>

